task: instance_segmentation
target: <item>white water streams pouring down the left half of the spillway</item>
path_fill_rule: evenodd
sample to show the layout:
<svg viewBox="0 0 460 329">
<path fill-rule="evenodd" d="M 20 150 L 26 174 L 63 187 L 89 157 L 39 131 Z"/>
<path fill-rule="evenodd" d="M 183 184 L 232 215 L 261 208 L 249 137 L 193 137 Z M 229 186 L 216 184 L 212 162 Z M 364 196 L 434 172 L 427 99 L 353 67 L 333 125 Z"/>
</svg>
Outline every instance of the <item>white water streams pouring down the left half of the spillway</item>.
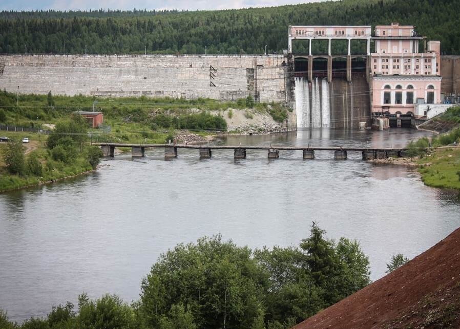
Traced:
<svg viewBox="0 0 460 329">
<path fill-rule="evenodd" d="M 311 97 L 310 97 L 311 95 Z M 297 128 L 330 128 L 330 99 L 327 78 L 311 83 L 311 93 L 308 80 L 296 77 L 296 112 Z"/>
</svg>

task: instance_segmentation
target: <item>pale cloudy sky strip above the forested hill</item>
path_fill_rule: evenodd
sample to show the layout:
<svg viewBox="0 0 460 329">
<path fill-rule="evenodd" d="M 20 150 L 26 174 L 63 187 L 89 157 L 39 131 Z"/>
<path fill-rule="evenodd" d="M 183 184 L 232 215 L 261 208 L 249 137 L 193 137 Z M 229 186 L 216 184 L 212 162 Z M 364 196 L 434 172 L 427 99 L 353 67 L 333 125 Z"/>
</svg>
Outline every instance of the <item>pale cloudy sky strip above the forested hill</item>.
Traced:
<svg viewBox="0 0 460 329">
<path fill-rule="evenodd" d="M 214 10 L 320 2 L 322 0 L 0 0 L 0 10 L 178 9 Z"/>
</svg>

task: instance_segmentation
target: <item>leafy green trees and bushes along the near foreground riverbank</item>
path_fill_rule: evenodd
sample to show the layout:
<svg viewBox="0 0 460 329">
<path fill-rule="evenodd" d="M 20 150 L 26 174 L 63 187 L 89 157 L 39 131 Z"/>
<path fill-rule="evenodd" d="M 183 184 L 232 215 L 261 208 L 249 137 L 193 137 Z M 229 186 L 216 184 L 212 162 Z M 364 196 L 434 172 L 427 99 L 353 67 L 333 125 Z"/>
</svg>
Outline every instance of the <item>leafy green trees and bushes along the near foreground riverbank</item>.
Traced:
<svg viewBox="0 0 460 329">
<path fill-rule="evenodd" d="M 6 328 L 288 328 L 369 283 L 357 241 L 327 240 L 316 223 L 299 247 L 251 251 L 220 235 L 178 244 L 142 280 L 140 300 L 117 296 L 53 307 L 45 319 Z M 2 322 L 3 321 L 3 322 Z M 8 327 L 10 326 L 10 327 Z"/>
</svg>

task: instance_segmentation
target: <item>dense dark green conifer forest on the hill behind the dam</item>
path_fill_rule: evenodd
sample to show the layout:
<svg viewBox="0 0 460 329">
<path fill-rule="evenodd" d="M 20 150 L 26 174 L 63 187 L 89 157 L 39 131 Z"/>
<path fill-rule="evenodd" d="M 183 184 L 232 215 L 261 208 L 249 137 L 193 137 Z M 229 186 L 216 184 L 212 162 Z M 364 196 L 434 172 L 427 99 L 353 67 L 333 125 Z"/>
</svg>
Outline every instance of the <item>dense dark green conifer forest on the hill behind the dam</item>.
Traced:
<svg viewBox="0 0 460 329">
<path fill-rule="evenodd" d="M 222 11 L 0 13 L 0 53 L 261 54 L 287 48 L 289 25 L 415 25 L 460 53 L 460 0 L 344 0 Z M 147 47 L 147 48 L 146 48 Z M 296 47 L 296 44 L 293 45 Z"/>
</svg>

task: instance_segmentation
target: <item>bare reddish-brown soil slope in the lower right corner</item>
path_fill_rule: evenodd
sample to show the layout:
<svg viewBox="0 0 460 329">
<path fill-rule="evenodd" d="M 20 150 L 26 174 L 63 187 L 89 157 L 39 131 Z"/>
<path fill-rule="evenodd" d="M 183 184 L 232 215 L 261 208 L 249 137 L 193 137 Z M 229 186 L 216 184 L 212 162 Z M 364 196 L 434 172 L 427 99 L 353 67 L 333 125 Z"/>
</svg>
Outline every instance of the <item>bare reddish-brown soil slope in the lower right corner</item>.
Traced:
<svg viewBox="0 0 460 329">
<path fill-rule="evenodd" d="M 460 328 L 460 229 L 295 329 Z"/>
</svg>

